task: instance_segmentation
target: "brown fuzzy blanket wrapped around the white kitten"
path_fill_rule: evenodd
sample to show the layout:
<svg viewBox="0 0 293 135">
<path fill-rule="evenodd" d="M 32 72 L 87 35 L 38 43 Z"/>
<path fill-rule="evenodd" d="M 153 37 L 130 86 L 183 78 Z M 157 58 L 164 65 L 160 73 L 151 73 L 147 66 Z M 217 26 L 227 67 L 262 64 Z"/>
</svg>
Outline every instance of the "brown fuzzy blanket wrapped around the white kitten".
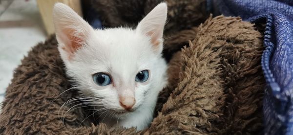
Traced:
<svg viewBox="0 0 293 135">
<path fill-rule="evenodd" d="M 166 55 L 174 54 L 169 85 L 148 129 L 109 128 L 86 118 L 82 107 L 63 117 L 71 106 L 61 107 L 76 90 L 65 91 L 70 83 L 52 36 L 33 47 L 15 70 L 2 104 L 0 134 L 261 134 L 262 34 L 249 22 L 223 16 L 183 29 L 167 32 L 172 36 L 166 38 Z"/>
</svg>

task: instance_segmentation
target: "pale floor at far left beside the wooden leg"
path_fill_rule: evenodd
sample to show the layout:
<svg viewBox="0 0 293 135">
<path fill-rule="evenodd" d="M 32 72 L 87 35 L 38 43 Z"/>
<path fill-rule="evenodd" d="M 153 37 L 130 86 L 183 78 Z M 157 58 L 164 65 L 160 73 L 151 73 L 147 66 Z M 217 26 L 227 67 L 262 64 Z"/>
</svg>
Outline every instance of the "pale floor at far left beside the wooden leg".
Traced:
<svg viewBox="0 0 293 135">
<path fill-rule="evenodd" d="M 0 16 L 0 103 L 13 70 L 46 38 L 36 0 L 14 0 Z"/>
</svg>

